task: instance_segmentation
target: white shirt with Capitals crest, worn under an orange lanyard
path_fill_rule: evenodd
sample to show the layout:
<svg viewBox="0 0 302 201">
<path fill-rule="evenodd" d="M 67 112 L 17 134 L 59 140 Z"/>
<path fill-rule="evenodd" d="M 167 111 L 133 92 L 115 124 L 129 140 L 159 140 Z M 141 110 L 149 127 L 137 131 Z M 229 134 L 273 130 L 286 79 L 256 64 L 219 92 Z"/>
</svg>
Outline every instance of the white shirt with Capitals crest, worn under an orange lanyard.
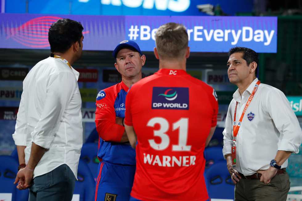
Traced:
<svg viewBox="0 0 302 201">
<path fill-rule="evenodd" d="M 231 154 L 233 146 L 233 121 L 236 101 L 236 125 L 258 78 L 243 92 L 233 94 L 223 131 L 223 156 Z M 248 116 L 250 119 L 248 119 Z M 236 138 L 236 170 L 245 176 L 257 170 L 266 170 L 277 151 L 299 153 L 302 131 L 296 115 L 284 93 L 270 85 L 261 83 L 251 104 L 244 114 Z M 288 160 L 282 168 L 286 168 Z"/>
</svg>

